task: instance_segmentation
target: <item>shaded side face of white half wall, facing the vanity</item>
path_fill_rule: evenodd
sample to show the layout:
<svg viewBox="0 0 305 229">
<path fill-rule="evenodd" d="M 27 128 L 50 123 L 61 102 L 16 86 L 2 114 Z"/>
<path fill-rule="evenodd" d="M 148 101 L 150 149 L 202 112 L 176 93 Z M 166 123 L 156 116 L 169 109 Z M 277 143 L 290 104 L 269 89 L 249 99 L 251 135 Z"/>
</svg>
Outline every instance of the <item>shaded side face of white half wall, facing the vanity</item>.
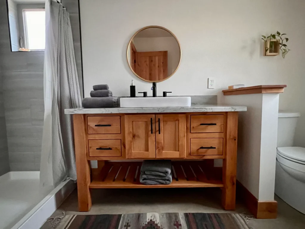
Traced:
<svg viewBox="0 0 305 229">
<path fill-rule="evenodd" d="M 260 184 L 262 97 L 262 94 L 224 96 L 226 104 L 247 106 L 246 112 L 238 113 L 236 179 L 257 199 Z"/>
</svg>

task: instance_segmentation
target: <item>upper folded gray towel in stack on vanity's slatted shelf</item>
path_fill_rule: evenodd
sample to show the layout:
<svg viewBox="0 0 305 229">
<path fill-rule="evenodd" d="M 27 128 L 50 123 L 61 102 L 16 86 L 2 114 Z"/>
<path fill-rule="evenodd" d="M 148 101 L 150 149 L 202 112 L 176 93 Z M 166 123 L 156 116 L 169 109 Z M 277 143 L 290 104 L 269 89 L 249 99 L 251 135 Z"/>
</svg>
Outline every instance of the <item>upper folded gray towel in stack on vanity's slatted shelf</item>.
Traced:
<svg viewBox="0 0 305 229">
<path fill-rule="evenodd" d="M 170 160 L 144 160 L 141 166 L 141 173 L 148 175 L 168 176 L 170 172 Z"/>
</svg>

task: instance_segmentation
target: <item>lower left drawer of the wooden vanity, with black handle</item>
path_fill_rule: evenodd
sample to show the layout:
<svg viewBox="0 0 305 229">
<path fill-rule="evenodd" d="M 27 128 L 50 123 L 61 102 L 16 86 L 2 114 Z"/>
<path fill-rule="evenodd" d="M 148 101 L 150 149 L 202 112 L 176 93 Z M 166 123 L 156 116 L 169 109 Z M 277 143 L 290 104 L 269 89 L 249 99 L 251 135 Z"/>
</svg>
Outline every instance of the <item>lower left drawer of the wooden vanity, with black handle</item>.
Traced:
<svg viewBox="0 0 305 229">
<path fill-rule="evenodd" d="M 89 157 L 120 157 L 121 140 L 89 140 Z"/>
</svg>

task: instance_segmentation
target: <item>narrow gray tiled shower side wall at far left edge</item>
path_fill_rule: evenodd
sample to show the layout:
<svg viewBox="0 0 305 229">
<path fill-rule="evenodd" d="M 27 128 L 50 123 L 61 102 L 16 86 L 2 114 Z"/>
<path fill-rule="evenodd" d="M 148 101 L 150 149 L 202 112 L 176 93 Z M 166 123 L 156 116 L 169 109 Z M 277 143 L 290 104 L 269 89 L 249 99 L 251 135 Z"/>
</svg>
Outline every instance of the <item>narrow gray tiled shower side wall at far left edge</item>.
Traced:
<svg viewBox="0 0 305 229">
<path fill-rule="evenodd" d="M 3 98 L 3 76 L 0 68 L 0 176 L 9 172 L 9 151 L 7 148 L 4 98 Z"/>
</svg>

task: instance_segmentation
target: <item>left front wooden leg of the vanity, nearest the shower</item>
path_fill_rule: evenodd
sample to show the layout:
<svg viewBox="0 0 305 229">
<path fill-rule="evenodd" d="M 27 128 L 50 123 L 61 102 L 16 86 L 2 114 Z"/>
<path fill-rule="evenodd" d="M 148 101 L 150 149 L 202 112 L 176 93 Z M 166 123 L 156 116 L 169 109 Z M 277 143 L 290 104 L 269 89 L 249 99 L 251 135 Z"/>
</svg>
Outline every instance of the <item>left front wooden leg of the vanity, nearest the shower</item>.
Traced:
<svg viewBox="0 0 305 229">
<path fill-rule="evenodd" d="M 73 115 L 74 145 L 77 172 L 78 210 L 88 212 L 91 208 L 90 161 L 86 155 L 85 115 Z"/>
</svg>

